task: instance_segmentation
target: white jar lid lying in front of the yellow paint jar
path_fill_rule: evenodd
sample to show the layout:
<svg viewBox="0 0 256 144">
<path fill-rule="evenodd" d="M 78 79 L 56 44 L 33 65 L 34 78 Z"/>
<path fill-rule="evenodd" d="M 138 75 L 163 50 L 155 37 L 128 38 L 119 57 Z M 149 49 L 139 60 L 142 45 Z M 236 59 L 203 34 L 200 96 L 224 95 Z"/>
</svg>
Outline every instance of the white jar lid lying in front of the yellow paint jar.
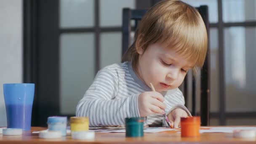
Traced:
<svg viewBox="0 0 256 144">
<path fill-rule="evenodd" d="M 94 131 L 74 131 L 71 133 L 72 139 L 94 139 Z"/>
</svg>

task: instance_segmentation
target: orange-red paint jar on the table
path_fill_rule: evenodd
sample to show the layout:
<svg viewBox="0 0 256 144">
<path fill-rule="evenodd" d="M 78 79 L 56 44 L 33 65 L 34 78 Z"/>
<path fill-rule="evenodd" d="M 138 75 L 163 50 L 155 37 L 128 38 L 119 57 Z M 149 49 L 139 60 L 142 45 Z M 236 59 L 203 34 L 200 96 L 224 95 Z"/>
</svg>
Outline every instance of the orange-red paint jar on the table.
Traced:
<svg viewBox="0 0 256 144">
<path fill-rule="evenodd" d="M 200 117 L 181 117 L 181 136 L 200 136 Z"/>
</svg>

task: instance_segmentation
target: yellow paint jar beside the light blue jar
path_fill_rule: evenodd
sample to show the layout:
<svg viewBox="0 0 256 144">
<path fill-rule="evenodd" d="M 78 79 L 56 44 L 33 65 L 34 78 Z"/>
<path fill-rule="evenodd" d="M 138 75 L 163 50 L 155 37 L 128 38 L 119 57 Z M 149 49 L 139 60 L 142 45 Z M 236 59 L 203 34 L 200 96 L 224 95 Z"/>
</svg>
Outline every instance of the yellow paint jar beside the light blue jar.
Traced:
<svg viewBox="0 0 256 144">
<path fill-rule="evenodd" d="M 75 131 L 89 131 L 88 117 L 70 117 L 70 130 Z"/>
</svg>

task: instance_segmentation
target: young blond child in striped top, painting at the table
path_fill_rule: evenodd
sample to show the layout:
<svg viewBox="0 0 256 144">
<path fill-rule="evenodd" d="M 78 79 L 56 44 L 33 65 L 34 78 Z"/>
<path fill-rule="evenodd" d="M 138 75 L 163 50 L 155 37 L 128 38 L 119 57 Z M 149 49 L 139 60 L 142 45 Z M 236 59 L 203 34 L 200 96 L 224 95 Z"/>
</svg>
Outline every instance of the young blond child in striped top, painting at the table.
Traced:
<svg viewBox="0 0 256 144">
<path fill-rule="evenodd" d="M 125 125 L 125 117 L 146 117 L 145 126 L 168 127 L 165 113 L 177 128 L 181 117 L 191 116 L 178 87 L 189 69 L 203 66 L 207 44 L 195 8 L 180 0 L 157 3 L 141 20 L 125 62 L 97 73 L 76 115 L 89 117 L 92 127 Z"/>
</svg>

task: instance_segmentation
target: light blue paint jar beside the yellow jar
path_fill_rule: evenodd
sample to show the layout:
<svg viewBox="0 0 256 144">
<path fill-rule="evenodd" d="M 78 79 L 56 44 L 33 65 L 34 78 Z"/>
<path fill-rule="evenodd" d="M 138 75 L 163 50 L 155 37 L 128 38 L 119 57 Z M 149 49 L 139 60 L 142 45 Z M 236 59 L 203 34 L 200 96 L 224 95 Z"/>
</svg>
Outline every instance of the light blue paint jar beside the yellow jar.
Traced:
<svg viewBox="0 0 256 144">
<path fill-rule="evenodd" d="M 48 117 L 48 131 L 61 131 L 61 136 L 66 136 L 67 117 Z"/>
</svg>

